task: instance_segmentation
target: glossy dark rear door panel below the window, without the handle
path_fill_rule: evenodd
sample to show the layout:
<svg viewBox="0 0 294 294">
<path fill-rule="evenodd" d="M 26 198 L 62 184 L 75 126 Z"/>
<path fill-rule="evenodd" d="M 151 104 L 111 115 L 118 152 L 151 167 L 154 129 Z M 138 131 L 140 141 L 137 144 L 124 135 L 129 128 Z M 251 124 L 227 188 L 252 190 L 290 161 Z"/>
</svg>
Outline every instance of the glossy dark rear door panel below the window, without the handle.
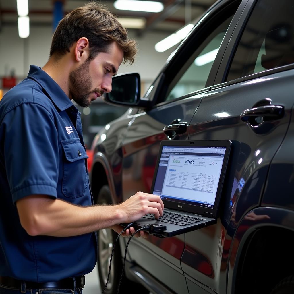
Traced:
<svg viewBox="0 0 294 294">
<path fill-rule="evenodd" d="M 234 173 L 234 181 L 222 193 L 224 206 L 219 211 L 218 224 L 186 233 L 186 248 L 181 259 L 185 273 L 204 281 L 216 292 L 220 283 L 219 273 L 226 271 L 224 245 L 228 246 L 234 235 L 232 230 L 227 232 L 228 221 L 234 213 L 234 222 L 238 226 L 240 218 L 260 203 L 268 167 L 290 121 L 293 78 L 294 71 L 286 71 L 210 91 L 203 97 L 191 121 L 190 140 L 229 139 L 240 142 L 240 146 L 232 150 L 235 156 L 239 155 L 237 164 L 228 163 L 228 172 Z M 287 90 L 281 98 L 280 89 L 284 87 Z M 238 103 L 235 103 L 236 97 Z M 285 115 L 268 122 L 269 126 L 264 131 L 257 131 L 259 127 L 248 126 L 240 120 L 240 114 L 265 98 L 270 98 L 273 104 L 283 105 Z M 201 270 L 199 255 L 210 257 L 206 262 L 208 273 Z M 191 260 L 194 261 L 192 264 Z M 208 265 L 211 270 L 208 270 Z"/>
</svg>

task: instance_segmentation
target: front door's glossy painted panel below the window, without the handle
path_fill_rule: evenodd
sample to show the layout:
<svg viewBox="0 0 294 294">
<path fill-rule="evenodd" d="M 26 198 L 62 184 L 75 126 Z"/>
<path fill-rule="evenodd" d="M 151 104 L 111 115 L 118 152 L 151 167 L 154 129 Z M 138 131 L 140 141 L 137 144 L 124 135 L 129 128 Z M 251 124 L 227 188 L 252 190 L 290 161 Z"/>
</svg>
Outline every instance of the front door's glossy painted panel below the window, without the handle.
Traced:
<svg viewBox="0 0 294 294">
<path fill-rule="evenodd" d="M 137 191 L 151 192 L 159 145 L 161 140 L 166 140 L 163 127 L 171 124 L 174 119 L 180 119 L 188 124 L 203 95 L 204 93 L 200 93 L 186 99 L 173 101 L 134 116 L 134 121 L 128 129 L 128 136 L 123 146 L 123 200 Z M 189 127 L 187 126 L 187 132 L 177 136 L 177 138 L 187 139 L 188 130 Z M 168 239 L 149 236 L 147 239 L 134 240 L 133 243 L 143 244 L 143 248 L 151 249 L 154 252 L 153 254 L 160 255 L 166 262 L 172 263 L 179 269 L 181 268 L 180 258 L 185 246 L 184 235 Z M 146 262 L 148 262 L 146 254 L 136 255 L 132 252 L 135 251 L 129 250 L 131 259 L 144 268 Z M 165 275 L 165 273 L 162 274 Z M 178 274 L 183 277 L 182 271 Z M 161 278 L 164 279 L 164 276 Z M 177 285 L 175 284 L 175 286 Z"/>
</svg>

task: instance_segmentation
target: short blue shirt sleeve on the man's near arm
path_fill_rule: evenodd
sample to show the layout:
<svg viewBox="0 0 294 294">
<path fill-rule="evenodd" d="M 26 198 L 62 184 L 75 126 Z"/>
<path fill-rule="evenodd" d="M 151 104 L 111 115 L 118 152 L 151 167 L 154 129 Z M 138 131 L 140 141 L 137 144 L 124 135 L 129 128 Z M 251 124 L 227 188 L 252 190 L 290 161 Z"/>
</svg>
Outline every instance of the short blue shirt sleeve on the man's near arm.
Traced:
<svg viewBox="0 0 294 294">
<path fill-rule="evenodd" d="M 13 202 L 32 194 L 57 198 L 58 134 L 53 115 L 37 103 L 6 113 L 4 161 Z"/>
</svg>

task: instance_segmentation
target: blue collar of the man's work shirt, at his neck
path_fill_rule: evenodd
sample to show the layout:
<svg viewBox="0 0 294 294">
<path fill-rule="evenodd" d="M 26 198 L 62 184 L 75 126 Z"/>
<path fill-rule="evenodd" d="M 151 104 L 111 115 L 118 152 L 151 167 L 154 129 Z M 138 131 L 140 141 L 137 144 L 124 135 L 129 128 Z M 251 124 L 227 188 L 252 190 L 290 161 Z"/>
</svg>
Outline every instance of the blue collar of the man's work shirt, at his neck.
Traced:
<svg viewBox="0 0 294 294">
<path fill-rule="evenodd" d="M 69 97 L 64 93 L 60 86 L 43 71 L 39 66 L 31 65 L 28 78 L 32 78 L 38 82 L 50 96 L 52 102 L 60 109 L 65 110 L 74 104 Z"/>
</svg>

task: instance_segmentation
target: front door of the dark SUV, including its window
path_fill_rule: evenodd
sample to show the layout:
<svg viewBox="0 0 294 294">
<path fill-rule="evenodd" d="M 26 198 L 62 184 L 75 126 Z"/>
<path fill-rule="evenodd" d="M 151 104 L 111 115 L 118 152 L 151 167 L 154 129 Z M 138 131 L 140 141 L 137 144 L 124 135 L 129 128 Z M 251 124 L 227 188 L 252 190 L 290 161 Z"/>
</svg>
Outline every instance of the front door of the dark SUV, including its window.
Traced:
<svg viewBox="0 0 294 294">
<path fill-rule="evenodd" d="M 223 52 L 230 39 L 240 2 L 222 1 L 203 16 L 147 92 L 145 99 L 153 100 L 155 106 L 132 116 L 123 143 L 123 200 L 137 191 L 150 192 L 161 140 L 167 135 L 173 140 L 188 139 L 189 123 L 210 89 L 215 76 L 211 70 L 213 66 L 218 68 L 220 62 L 217 51 Z M 212 50 L 214 54 L 205 64 L 203 56 Z M 188 291 L 180 265 L 184 246 L 184 235 L 164 239 L 151 235 L 131 242 L 128 252 L 132 260 L 163 284 L 185 294 Z"/>
</svg>

